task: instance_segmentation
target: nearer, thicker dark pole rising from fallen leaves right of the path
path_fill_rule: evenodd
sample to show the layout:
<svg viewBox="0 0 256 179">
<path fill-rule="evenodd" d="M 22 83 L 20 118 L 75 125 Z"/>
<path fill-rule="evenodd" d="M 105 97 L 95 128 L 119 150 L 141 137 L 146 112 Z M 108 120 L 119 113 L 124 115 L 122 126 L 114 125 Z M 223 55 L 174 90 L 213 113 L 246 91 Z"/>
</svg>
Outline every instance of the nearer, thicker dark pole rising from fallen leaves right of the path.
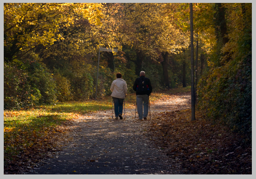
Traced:
<svg viewBox="0 0 256 179">
<path fill-rule="evenodd" d="M 191 56 L 191 121 L 196 120 L 195 88 L 194 88 L 194 33 L 193 33 L 193 3 L 190 3 L 190 56 Z"/>
</svg>

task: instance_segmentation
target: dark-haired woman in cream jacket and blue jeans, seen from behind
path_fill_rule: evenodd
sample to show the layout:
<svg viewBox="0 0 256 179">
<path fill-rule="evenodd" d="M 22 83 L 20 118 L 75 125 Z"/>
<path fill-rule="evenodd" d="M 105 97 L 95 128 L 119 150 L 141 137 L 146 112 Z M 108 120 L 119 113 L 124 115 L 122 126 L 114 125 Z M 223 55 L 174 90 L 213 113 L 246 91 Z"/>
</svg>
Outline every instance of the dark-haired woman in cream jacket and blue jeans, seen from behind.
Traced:
<svg viewBox="0 0 256 179">
<path fill-rule="evenodd" d="M 110 91 L 112 92 L 111 96 L 115 106 L 115 119 L 118 119 L 118 116 L 122 119 L 123 102 L 125 95 L 127 94 L 127 84 L 122 79 L 121 73 L 117 73 L 117 79 L 112 82 Z"/>
</svg>

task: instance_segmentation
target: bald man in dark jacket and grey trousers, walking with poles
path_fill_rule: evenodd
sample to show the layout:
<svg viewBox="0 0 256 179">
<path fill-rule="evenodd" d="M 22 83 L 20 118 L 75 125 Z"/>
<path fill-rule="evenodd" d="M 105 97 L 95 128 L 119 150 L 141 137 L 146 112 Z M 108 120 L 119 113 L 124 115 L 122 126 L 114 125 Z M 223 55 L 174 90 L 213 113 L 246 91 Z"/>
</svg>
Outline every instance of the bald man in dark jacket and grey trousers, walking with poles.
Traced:
<svg viewBox="0 0 256 179">
<path fill-rule="evenodd" d="M 136 102 L 139 119 L 146 120 L 148 116 L 148 100 L 149 95 L 152 92 L 152 86 L 149 78 L 145 77 L 144 71 L 141 71 L 139 78 L 136 78 L 132 88 L 134 91 L 136 91 Z"/>
</svg>

